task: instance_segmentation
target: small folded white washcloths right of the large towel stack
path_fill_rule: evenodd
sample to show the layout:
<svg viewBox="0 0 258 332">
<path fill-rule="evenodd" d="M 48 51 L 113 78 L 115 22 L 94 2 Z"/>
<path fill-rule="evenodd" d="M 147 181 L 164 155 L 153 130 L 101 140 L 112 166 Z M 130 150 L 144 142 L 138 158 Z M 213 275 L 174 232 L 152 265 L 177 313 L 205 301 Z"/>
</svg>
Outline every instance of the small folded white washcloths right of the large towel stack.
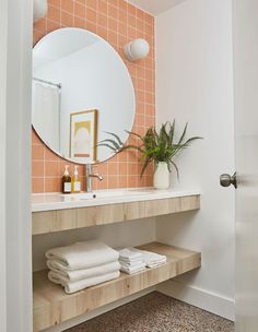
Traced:
<svg viewBox="0 0 258 332">
<path fill-rule="evenodd" d="M 121 271 L 133 274 L 145 268 L 156 268 L 166 262 L 166 256 L 136 248 L 118 249 Z"/>
</svg>

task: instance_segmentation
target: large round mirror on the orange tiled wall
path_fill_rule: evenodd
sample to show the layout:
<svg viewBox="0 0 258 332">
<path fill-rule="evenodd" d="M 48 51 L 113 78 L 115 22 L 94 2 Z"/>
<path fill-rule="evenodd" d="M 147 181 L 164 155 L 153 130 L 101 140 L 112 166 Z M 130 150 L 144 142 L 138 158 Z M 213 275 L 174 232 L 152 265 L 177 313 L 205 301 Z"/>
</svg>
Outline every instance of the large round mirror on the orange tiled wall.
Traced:
<svg viewBox="0 0 258 332">
<path fill-rule="evenodd" d="M 99 36 L 60 28 L 33 49 L 33 127 L 55 153 L 80 164 L 104 162 L 114 152 L 97 143 L 134 121 L 136 96 L 127 67 Z"/>
</svg>

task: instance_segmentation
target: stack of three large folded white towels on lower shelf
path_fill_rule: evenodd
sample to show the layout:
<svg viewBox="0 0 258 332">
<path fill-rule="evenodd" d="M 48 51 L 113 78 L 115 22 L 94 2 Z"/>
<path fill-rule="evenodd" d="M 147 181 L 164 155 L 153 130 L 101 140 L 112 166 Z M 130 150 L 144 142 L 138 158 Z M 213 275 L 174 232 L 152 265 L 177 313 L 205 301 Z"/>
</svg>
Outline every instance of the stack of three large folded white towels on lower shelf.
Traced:
<svg viewBox="0 0 258 332">
<path fill-rule="evenodd" d="M 119 253 L 97 240 L 77 242 L 46 252 L 48 278 L 72 294 L 120 275 Z"/>
</svg>

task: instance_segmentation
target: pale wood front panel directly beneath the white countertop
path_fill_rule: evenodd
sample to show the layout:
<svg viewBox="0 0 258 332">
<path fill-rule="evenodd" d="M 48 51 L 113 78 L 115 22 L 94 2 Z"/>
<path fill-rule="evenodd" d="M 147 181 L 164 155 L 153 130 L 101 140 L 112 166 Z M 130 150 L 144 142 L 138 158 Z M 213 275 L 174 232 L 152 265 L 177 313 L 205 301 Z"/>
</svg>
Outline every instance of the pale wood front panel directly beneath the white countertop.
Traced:
<svg viewBox="0 0 258 332">
<path fill-rule="evenodd" d="M 200 195 L 33 212 L 33 235 L 107 225 L 200 209 Z"/>
</svg>

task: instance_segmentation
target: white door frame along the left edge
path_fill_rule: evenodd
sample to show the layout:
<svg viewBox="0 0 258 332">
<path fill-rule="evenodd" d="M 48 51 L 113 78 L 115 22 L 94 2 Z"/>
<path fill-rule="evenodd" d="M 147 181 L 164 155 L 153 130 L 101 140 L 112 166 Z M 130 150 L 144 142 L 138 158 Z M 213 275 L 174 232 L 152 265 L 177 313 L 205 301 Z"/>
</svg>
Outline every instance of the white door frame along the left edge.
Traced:
<svg viewBox="0 0 258 332">
<path fill-rule="evenodd" d="M 31 332 L 32 0 L 0 0 L 0 332 Z"/>
</svg>

